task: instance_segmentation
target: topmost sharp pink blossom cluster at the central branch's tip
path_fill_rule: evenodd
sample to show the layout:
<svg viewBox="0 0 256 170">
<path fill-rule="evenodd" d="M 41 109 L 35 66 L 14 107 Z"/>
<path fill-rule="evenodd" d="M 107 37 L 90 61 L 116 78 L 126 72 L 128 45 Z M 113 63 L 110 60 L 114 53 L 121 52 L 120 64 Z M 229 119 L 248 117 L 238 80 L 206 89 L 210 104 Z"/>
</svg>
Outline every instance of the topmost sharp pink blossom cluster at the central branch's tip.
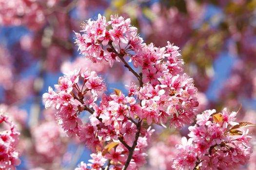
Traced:
<svg viewBox="0 0 256 170">
<path fill-rule="evenodd" d="M 112 29 L 107 30 L 111 26 Z M 111 16 L 111 21 L 106 22 L 105 17 L 98 15 L 96 21 L 89 19 L 83 26 L 85 34 L 76 33 L 76 43 L 80 53 L 93 62 L 108 61 L 110 66 L 117 59 L 117 54 L 111 50 L 109 43 L 118 48 L 118 52 L 129 50 L 138 51 L 142 47 L 142 38 L 137 34 L 137 28 L 131 26 L 130 18 Z M 119 48 L 123 47 L 123 48 Z"/>
</svg>

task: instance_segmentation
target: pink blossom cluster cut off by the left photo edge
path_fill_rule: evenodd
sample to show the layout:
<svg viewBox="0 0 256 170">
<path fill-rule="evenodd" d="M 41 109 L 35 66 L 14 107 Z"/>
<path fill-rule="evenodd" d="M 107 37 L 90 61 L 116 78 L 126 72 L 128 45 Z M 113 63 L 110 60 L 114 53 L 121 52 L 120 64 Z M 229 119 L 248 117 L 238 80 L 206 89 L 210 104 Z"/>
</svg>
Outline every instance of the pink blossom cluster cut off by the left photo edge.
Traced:
<svg viewBox="0 0 256 170">
<path fill-rule="evenodd" d="M 3 122 L 5 124 L 2 124 Z M 6 130 L 0 132 L 0 169 L 16 170 L 15 166 L 20 165 L 20 153 L 17 152 L 20 133 L 16 130 L 13 121 L 2 113 L 0 113 L 0 125 L 6 127 Z"/>
</svg>

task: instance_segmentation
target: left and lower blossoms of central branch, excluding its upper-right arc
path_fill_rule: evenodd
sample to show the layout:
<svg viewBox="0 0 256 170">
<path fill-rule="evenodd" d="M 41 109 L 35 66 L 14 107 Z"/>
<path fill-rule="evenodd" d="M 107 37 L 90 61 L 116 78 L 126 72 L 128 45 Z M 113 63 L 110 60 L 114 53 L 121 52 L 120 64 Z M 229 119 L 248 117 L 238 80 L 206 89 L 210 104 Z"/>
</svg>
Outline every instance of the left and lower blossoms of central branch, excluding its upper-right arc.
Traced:
<svg viewBox="0 0 256 170">
<path fill-rule="evenodd" d="M 118 90 L 111 95 L 103 93 L 98 105 L 98 95 L 106 86 L 101 77 L 88 69 L 65 73 L 59 78 L 59 85 L 55 85 L 55 88 L 56 92 L 49 87 L 49 93 L 43 94 L 45 107 L 58 110 L 56 118 L 68 136 L 79 136 L 80 141 L 88 148 L 109 160 L 112 165 L 110 169 L 123 167 L 130 153 L 129 149 L 133 146 L 135 148 L 128 170 L 136 170 L 146 163 L 147 141 L 153 130 L 139 127 L 140 136 L 138 135 L 138 123 L 132 118 L 135 118 L 136 107 L 139 110 L 141 108 L 134 97 L 125 97 Z M 92 114 L 90 122 L 83 123 L 78 117 L 84 110 Z M 133 144 L 135 139 L 136 145 Z M 94 161 L 87 166 L 93 170 L 101 169 L 104 165 L 101 162 L 103 158 L 92 157 Z M 84 166 L 81 163 L 81 167 Z"/>
</svg>

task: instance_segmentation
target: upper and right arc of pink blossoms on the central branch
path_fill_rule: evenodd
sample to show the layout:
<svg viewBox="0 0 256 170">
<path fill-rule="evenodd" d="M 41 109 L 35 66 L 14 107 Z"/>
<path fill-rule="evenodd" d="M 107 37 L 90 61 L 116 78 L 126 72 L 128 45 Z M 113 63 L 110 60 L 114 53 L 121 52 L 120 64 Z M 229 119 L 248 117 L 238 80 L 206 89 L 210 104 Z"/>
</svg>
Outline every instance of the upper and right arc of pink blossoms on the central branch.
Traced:
<svg viewBox="0 0 256 170">
<path fill-rule="evenodd" d="M 112 29 L 107 29 L 107 28 Z M 137 116 L 147 119 L 148 124 L 167 123 L 180 127 L 193 121 L 196 115 L 197 88 L 193 79 L 183 73 L 183 60 L 178 47 L 168 42 L 163 48 L 146 45 L 138 36 L 137 28 L 131 26 L 130 19 L 111 16 L 110 21 L 98 15 L 97 20 L 89 19 L 84 24 L 84 34 L 76 33 L 76 43 L 80 53 L 93 62 L 122 61 L 139 80 L 139 87 L 132 83 L 130 96 L 141 100 L 141 108 L 136 105 Z M 136 73 L 125 61 L 129 58 Z"/>
</svg>

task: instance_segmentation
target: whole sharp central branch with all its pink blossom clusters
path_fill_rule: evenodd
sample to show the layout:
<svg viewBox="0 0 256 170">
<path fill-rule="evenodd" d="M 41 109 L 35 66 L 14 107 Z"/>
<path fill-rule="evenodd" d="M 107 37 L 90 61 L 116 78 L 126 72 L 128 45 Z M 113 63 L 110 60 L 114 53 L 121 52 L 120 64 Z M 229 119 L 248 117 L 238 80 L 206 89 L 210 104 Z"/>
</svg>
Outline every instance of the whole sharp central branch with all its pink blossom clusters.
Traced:
<svg viewBox="0 0 256 170">
<path fill-rule="evenodd" d="M 194 121 L 197 88 L 183 72 L 179 48 L 170 42 L 163 48 L 143 43 L 129 18 L 111 16 L 107 22 L 98 15 L 97 20 L 89 19 L 83 25 L 82 32 L 76 33 L 82 55 L 98 65 L 108 62 L 112 67 L 114 62 L 122 62 L 138 79 L 138 84 L 131 82 L 128 96 L 119 90 L 104 93 L 104 80 L 95 71 L 77 68 L 59 78 L 55 91 L 49 87 L 48 93 L 43 94 L 45 107 L 55 108 L 56 119 L 67 135 L 79 136 L 94 152 L 90 163 L 81 162 L 76 170 L 138 170 L 146 163 L 148 139 L 154 132 L 150 125 L 180 128 Z M 87 112 L 90 122 L 82 122 L 79 117 Z M 233 117 L 227 114 L 226 117 L 223 126 L 229 127 Z M 149 128 L 145 129 L 143 124 Z M 214 130 L 219 128 L 216 126 Z M 231 131 L 215 134 L 213 145 L 205 149 L 213 153 L 218 146 L 223 147 L 221 137 Z M 190 168 L 203 164 L 202 158 L 192 158 L 188 158 Z"/>
</svg>

